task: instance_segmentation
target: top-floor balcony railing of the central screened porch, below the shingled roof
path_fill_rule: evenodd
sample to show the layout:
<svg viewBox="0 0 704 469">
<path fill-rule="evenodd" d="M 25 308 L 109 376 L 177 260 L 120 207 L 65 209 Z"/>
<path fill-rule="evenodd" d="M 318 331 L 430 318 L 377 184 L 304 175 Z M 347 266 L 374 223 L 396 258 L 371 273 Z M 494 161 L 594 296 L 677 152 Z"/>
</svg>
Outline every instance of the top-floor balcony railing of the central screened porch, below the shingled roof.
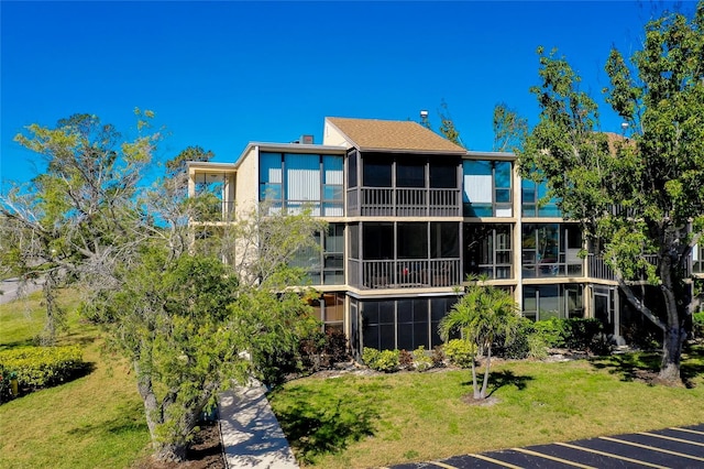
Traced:
<svg viewBox="0 0 704 469">
<path fill-rule="evenodd" d="M 460 189 L 361 187 L 348 190 L 348 212 L 364 217 L 459 217 Z"/>
</svg>

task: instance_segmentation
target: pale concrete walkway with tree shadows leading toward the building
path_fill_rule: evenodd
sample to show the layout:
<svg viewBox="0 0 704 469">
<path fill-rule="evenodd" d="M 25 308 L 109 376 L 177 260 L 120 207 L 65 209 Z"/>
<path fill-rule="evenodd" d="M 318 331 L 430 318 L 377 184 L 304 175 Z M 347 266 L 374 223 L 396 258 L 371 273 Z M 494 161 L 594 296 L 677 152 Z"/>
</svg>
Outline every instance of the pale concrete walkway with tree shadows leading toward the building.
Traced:
<svg viewBox="0 0 704 469">
<path fill-rule="evenodd" d="M 223 393 L 218 411 L 228 468 L 298 468 L 263 384 L 255 381 Z"/>
</svg>

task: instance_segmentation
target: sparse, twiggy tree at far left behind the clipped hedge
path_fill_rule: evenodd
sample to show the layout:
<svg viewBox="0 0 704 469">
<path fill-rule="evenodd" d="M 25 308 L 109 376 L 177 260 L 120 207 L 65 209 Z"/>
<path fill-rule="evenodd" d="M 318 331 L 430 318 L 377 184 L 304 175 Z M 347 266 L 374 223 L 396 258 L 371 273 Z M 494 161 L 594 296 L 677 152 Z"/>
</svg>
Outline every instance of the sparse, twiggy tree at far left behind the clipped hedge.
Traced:
<svg viewBox="0 0 704 469">
<path fill-rule="evenodd" d="M 66 283 L 103 279 L 116 259 L 140 242 L 133 199 L 158 133 L 142 134 L 150 111 L 136 110 L 139 137 L 119 142 L 113 126 L 74 114 L 55 128 L 28 127 L 15 137 L 44 157 L 46 171 L 31 184 L 0 196 L 3 242 L 0 260 L 23 282 L 42 279 L 46 323 L 42 339 L 54 341 L 63 312 L 55 291 Z"/>
</svg>

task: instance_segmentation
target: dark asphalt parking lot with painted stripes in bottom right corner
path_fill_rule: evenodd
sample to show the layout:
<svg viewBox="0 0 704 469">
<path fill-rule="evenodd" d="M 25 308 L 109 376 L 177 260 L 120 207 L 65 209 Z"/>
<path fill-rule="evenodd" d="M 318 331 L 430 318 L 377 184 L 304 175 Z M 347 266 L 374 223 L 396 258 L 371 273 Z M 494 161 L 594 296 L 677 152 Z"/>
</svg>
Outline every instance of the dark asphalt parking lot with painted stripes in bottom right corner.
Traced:
<svg viewBox="0 0 704 469">
<path fill-rule="evenodd" d="M 704 468 L 704 424 L 512 448 L 393 469 L 465 468 Z"/>
</svg>

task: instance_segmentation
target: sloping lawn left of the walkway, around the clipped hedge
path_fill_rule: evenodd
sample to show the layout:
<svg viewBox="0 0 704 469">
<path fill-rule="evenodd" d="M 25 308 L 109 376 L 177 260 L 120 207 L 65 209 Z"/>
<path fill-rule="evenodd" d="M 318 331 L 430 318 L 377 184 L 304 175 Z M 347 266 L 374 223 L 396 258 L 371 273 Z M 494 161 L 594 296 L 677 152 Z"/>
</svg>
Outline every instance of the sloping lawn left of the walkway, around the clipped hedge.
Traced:
<svg viewBox="0 0 704 469">
<path fill-rule="evenodd" d="M 0 305 L 0 349 L 32 343 L 43 326 L 41 294 Z M 99 331 L 76 314 L 64 292 L 67 330 L 61 345 L 80 343 L 91 373 L 0 405 L 0 467 L 124 468 L 148 452 L 144 411 L 129 368 L 101 351 Z"/>
</svg>

